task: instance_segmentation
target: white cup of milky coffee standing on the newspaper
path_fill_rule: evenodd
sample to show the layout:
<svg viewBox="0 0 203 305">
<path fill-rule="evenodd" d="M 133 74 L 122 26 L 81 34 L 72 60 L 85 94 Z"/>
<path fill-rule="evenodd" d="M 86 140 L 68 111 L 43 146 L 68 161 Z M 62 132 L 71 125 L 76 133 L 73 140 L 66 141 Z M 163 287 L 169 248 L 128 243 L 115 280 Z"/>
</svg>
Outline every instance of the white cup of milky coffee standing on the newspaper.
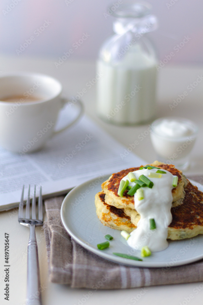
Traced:
<svg viewBox="0 0 203 305">
<path fill-rule="evenodd" d="M 68 102 L 61 98 L 61 91 L 61 83 L 44 74 L 1 76 L 0 145 L 12 152 L 32 152 L 74 124 L 83 113 L 80 101 L 75 104 L 80 108 L 78 116 L 64 128 L 54 130 L 60 109 Z"/>
</svg>

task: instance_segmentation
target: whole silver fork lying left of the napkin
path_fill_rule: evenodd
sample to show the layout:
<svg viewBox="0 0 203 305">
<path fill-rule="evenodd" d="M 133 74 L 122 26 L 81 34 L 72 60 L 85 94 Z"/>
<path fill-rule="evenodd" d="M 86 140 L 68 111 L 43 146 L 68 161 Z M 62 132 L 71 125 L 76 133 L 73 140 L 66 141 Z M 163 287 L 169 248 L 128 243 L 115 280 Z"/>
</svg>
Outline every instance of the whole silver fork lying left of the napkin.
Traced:
<svg viewBox="0 0 203 305">
<path fill-rule="evenodd" d="M 35 227 L 43 225 L 43 206 L 42 206 L 42 187 L 40 187 L 40 196 L 38 199 L 38 219 L 36 217 L 36 185 L 34 187 L 34 195 L 32 199 L 32 217 L 30 218 L 30 185 L 28 190 L 27 202 L 26 202 L 26 215 L 23 218 L 23 197 L 24 186 L 22 196 L 19 204 L 18 221 L 27 227 L 30 227 L 30 239 L 27 249 L 27 305 L 41 305 L 41 293 L 40 293 L 40 272 L 39 272 L 39 260 L 37 240 L 35 235 Z"/>
</svg>

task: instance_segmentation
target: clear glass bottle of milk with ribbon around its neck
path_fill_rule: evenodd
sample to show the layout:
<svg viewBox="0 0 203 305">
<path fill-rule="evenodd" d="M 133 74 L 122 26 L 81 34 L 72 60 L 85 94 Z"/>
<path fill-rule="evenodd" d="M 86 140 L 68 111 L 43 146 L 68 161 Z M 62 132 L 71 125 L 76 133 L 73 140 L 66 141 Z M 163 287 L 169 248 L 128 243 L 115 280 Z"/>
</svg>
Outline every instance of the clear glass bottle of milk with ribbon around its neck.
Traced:
<svg viewBox="0 0 203 305">
<path fill-rule="evenodd" d="M 116 17 L 114 35 L 100 48 L 97 72 L 97 113 L 110 123 L 132 125 L 156 113 L 156 52 L 145 33 L 156 29 L 146 2 L 109 8 Z"/>
</svg>

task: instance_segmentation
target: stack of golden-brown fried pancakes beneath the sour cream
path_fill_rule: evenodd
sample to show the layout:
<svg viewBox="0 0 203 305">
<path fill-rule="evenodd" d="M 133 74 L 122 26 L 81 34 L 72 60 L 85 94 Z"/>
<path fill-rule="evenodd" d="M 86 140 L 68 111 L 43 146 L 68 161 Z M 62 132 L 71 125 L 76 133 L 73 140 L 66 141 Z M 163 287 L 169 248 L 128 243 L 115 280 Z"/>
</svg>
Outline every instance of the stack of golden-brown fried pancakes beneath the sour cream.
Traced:
<svg viewBox="0 0 203 305">
<path fill-rule="evenodd" d="M 168 226 L 167 238 L 184 239 L 203 234 L 203 193 L 192 185 L 182 171 L 177 170 L 174 165 L 158 161 L 149 165 L 168 170 L 178 177 L 177 187 L 172 189 L 173 219 Z M 102 192 L 96 194 L 95 205 L 97 216 L 104 225 L 129 233 L 137 228 L 140 215 L 135 210 L 134 196 L 127 195 L 128 191 L 125 191 L 123 197 L 120 197 L 117 192 L 121 179 L 139 168 L 121 170 L 102 183 Z"/>
</svg>

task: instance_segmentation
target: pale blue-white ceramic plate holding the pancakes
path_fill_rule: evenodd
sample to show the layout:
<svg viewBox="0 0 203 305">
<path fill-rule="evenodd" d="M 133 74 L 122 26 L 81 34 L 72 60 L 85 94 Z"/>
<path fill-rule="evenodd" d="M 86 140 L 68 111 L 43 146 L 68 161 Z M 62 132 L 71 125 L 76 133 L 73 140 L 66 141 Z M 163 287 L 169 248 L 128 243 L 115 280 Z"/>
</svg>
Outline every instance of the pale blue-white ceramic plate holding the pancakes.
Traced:
<svg viewBox="0 0 203 305">
<path fill-rule="evenodd" d="M 169 246 L 164 251 L 154 252 L 149 257 L 136 261 L 118 257 L 112 254 L 120 252 L 140 257 L 140 251 L 128 246 L 121 236 L 121 231 L 104 226 L 96 215 L 94 196 L 101 191 L 101 183 L 110 175 L 89 180 L 75 187 L 65 197 L 61 206 L 61 219 L 65 229 L 81 246 L 93 253 L 113 262 L 139 267 L 163 267 L 169 268 L 189 264 L 203 258 L 203 235 L 191 239 L 177 241 L 169 240 Z M 194 185 L 195 181 L 191 181 Z M 199 187 L 203 191 L 203 186 Z M 114 237 L 107 249 L 99 250 L 97 244 L 107 239 L 104 235 Z"/>
</svg>

